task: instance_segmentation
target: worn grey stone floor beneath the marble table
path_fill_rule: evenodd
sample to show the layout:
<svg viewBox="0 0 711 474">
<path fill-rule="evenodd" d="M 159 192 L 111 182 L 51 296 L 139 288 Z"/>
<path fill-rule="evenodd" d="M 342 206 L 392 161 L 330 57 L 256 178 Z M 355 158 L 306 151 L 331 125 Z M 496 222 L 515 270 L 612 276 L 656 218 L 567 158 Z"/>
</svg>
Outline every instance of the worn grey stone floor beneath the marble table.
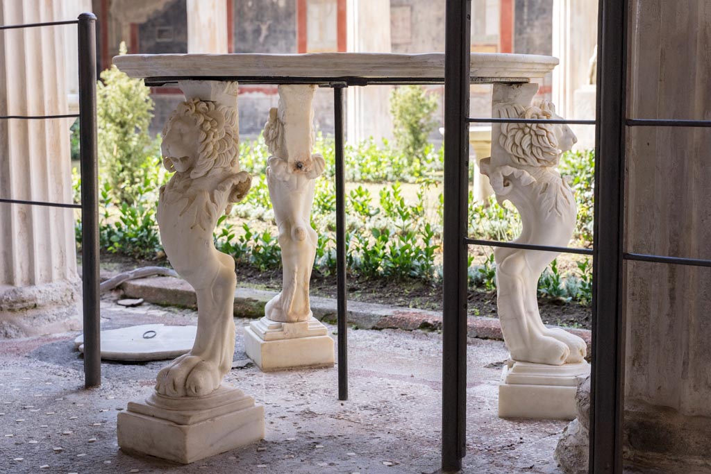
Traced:
<svg viewBox="0 0 711 474">
<path fill-rule="evenodd" d="M 102 324 L 196 323 L 196 313 L 102 303 Z M 76 333 L 0 341 L 0 473 L 438 473 L 441 349 L 438 333 L 351 330 L 350 398 L 337 399 L 336 368 L 264 374 L 246 364 L 238 319 L 237 366 L 226 382 L 265 406 L 264 441 L 178 465 L 128 456 L 116 416 L 149 394 L 165 362 L 102 364 L 102 386 L 82 387 Z M 335 331 L 333 326 L 330 326 Z M 335 337 L 335 336 L 334 336 Z M 552 453 L 560 421 L 496 416 L 506 349 L 469 340 L 464 473 L 559 473 Z"/>
</svg>

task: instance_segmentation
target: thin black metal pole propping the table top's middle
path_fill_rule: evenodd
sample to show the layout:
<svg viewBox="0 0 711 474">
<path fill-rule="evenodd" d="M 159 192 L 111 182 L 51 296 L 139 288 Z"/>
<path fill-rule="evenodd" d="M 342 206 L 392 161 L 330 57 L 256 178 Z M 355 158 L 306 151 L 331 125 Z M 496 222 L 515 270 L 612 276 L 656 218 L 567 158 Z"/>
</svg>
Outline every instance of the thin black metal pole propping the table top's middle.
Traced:
<svg viewBox="0 0 711 474">
<path fill-rule="evenodd" d="M 336 135 L 336 295 L 338 297 L 338 399 L 348 399 L 348 321 L 346 315 L 346 181 L 343 170 L 343 89 L 333 85 Z"/>
</svg>

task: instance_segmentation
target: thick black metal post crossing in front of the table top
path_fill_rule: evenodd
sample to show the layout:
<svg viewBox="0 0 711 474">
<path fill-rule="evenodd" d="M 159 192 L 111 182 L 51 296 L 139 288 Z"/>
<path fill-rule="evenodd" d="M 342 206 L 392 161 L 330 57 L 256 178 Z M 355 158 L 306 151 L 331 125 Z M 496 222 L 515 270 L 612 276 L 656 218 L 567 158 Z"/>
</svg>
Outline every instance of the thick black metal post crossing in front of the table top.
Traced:
<svg viewBox="0 0 711 474">
<path fill-rule="evenodd" d="M 447 0 L 444 38 L 442 470 L 466 454 L 466 237 L 471 2 Z"/>
</svg>

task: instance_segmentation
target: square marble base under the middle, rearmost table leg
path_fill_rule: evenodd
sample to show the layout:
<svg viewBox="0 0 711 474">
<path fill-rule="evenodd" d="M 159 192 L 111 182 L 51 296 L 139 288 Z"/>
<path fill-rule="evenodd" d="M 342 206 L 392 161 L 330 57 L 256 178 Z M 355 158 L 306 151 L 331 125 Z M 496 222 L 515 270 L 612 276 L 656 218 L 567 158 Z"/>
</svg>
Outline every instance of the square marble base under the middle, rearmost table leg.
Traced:
<svg viewBox="0 0 711 474">
<path fill-rule="evenodd" d="M 277 323 L 266 317 L 245 328 L 245 352 L 264 372 L 333 367 L 333 339 L 316 318 Z"/>
</svg>

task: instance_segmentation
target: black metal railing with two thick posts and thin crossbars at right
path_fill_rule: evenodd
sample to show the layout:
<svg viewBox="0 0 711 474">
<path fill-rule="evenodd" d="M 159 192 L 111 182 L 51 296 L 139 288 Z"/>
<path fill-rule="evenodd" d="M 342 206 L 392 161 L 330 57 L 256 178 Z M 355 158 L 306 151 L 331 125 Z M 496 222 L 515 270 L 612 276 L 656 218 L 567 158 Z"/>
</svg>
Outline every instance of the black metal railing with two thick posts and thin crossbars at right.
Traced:
<svg viewBox="0 0 711 474">
<path fill-rule="evenodd" d="M 461 469 L 466 443 L 466 247 L 587 254 L 593 258 L 591 474 L 621 474 L 624 413 L 623 264 L 626 260 L 711 266 L 692 259 L 624 251 L 625 131 L 634 126 L 711 127 L 711 120 L 626 117 L 627 11 L 629 1 L 599 0 L 596 120 L 472 119 L 469 113 L 470 0 L 447 1 L 444 124 L 444 317 L 442 468 Z M 469 123 L 596 125 L 593 249 L 473 239 L 467 231 Z"/>
</svg>

